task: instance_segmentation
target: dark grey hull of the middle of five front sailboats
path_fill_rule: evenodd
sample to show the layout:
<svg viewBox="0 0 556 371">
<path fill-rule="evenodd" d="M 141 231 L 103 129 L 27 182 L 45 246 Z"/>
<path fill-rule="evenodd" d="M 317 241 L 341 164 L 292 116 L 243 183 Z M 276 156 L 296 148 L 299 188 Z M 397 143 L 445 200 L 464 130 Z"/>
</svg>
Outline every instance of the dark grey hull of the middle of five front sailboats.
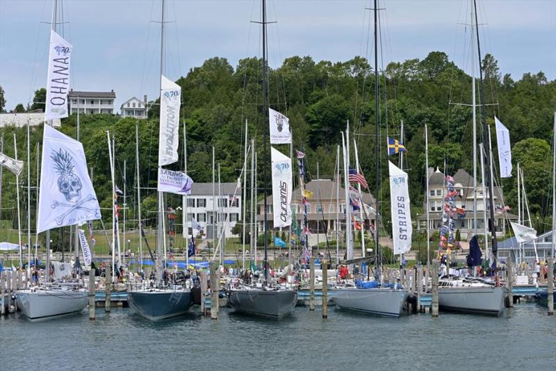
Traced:
<svg viewBox="0 0 556 371">
<path fill-rule="evenodd" d="M 295 290 L 243 289 L 229 295 L 234 311 L 277 320 L 290 315 L 296 303 Z"/>
</svg>

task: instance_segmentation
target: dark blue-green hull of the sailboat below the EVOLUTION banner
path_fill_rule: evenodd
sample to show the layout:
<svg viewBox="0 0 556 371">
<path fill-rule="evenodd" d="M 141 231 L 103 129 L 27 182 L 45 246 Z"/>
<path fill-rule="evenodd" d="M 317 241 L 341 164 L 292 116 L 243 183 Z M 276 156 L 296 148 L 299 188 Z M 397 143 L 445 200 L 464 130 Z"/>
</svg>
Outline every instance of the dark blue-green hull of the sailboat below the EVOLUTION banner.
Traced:
<svg viewBox="0 0 556 371">
<path fill-rule="evenodd" d="M 183 315 L 193 304 L 191 299 L 190 290 L 153 289 L 127 293 L 130 308 L 151 321 Z"/>
</svg>

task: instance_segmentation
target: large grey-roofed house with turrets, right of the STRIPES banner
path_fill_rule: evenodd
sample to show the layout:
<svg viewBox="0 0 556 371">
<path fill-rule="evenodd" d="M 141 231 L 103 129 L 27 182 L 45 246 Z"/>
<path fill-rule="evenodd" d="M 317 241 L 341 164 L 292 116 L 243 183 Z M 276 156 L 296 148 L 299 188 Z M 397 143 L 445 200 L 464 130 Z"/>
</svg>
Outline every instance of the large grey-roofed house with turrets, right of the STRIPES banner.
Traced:
<svg viewBox="0 0 556 371">
<path fill-rule="evenodd" d="M 455 229 L 459 230 L 461 240 L 471 240 L 475 230 L 473 225 L 473 176 L 463 169 L 457 170 L 454 178 L 454 188 L 457 192 L 455 206 L 463 208 L 464 214 L 455 219 Z M 417 230 L 439 231 L 442 223 L 442 211 L 444 206 L 444 196 L 448 192 L 445 187 L 444 174 L 436 168 L 434 171 L 429 169 L 429 216 L 430 224 L 427 226 L 427 215 L 425 213 L 417 215 Z M 490 212 L 488 190 L 477 183 L 477 233 L 485 233 L 484 211 L 486 204 L 487 213 Z M 493 187 L 493 204 L 496 208 L 494 226 L 496 236 L 502 237 L 506 233 L 507 223 L 505 220 L 517 220 L 517 216 L 508 213 L 504 208 L 502 187 Z M 427 195 L 424 197 L 423 210 L 427 209 Z M 490 222 L 487 217 L 486 227 L 490 230 Z"/>
</svg>

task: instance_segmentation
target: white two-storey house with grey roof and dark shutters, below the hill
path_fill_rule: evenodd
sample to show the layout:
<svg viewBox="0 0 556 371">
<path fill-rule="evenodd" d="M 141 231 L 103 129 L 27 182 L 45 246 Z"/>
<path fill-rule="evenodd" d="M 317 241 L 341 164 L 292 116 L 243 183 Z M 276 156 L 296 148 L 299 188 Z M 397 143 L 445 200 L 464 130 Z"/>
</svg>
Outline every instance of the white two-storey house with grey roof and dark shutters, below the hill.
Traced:
<svg viewBox="0 0 556 371">
<path fill-rule="evenodd" d="M 241 220 L 241 190 L 237 183 L 193 183 L 191 195 L 185 197 L 183 221 L 188 236 L 218 238 L 222 230 L 224 236 L 231 237 L 231 229 Z M 236 194 L 234 197 L 234 193 Z M 228 220 L 228 222 L 226 222 Z M 237 236 L 237 235 L 236 235 Z"/>
</svg>

